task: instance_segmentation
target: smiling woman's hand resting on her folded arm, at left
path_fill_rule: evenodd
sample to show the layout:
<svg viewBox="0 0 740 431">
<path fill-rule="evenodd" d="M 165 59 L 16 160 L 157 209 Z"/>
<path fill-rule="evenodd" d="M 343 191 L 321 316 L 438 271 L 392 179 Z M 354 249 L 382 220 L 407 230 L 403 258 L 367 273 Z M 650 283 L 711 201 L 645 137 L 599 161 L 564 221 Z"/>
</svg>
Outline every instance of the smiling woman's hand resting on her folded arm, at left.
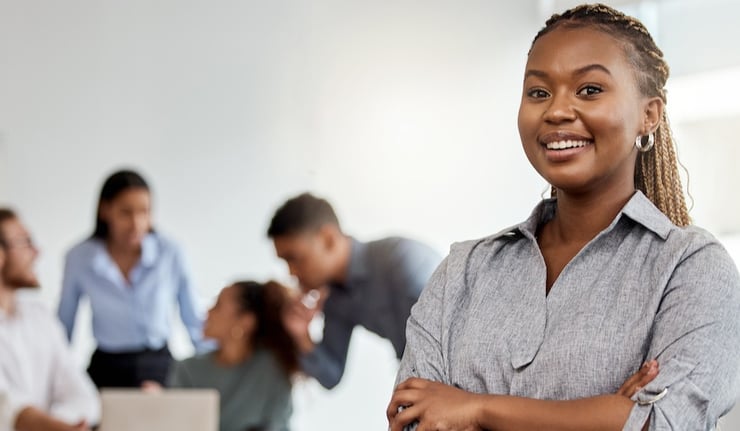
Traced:
<svg viewBox="0 0 740 431">
<path fill-rule="evenodd" d="M 453 386 L 410 378 L 396 387 L 386 415 L 391 431 L 402 431 L 414 421 L 419 422 L 416 431 L 478 431 L 482 398 Z"/>
</svg>

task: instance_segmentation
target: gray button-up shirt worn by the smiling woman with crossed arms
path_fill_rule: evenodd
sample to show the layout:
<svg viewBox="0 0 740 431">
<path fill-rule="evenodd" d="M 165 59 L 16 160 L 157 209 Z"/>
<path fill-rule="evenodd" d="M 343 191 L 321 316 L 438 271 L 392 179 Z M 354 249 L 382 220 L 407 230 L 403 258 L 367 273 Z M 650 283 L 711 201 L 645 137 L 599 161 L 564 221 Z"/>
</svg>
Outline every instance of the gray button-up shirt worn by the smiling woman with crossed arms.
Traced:
<svg viewBox="0 0 740 431">
<path fill-rule="evenodd" d="M 727 252 L 637 192 L 546 295 L 535 233 L 555 208 L 544 201 L 520 225 L 452 246 L 412 309 L 398 381 L 567 400 L 615 393 L 657 358 L 624 428 L 650 415 L 651 430 L 713 429 L 740 376 L 740 277 Z"/>
</svg>

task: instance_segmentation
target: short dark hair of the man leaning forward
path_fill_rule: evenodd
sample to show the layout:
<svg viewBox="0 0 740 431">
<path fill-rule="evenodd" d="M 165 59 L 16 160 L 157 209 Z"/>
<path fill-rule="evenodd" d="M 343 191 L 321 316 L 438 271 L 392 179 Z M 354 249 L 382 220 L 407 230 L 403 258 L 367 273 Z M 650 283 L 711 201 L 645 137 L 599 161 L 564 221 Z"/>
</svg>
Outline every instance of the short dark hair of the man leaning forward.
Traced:
<svg viewBox="0 0 740 431">
<path fill-rule="evenodd" d="M 267 229 L 267 236 L 275 238 L 293 235 L 315 230 L 327 224 L 339 227 L 339 220 L 329 202 L 310 193 L 303 193 L 288 199 L 275 211 Z"/>
</svg>

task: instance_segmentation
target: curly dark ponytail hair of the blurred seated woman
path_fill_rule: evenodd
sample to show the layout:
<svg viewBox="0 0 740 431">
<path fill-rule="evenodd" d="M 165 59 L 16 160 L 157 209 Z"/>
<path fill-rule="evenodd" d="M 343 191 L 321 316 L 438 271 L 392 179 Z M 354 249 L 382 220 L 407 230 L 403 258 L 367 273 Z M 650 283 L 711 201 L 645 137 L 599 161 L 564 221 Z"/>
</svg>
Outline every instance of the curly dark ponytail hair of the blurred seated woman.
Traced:
<svg viewBox="0 0 740 431">
<path fill-rule="evenodd" d="M 288 375 L 300 369 L 298 347 L 283 326 L 282 313 L 288 303 L 288 288 L 275 281 L 237 281 L 237 298 L 242 311 L 257 316 L 252 342 L 272 351 Z"/>
</svg>

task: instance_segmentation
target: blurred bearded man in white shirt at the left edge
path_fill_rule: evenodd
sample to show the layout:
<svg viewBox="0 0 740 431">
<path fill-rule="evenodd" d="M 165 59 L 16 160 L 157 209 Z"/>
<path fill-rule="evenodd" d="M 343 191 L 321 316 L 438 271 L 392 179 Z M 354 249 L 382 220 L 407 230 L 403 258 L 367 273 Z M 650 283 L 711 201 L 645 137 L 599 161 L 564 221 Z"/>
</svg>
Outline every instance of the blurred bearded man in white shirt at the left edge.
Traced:
<svg viewBox="0 0 740 431">
<path fill-rule="evenodd" d="M 100 416 L 95 387 L 55 316 L 16 294 L 38 287 L 37 256 L 15 213 L 0 208 L 0 431 L 86 431 Z"/>
</svg>

